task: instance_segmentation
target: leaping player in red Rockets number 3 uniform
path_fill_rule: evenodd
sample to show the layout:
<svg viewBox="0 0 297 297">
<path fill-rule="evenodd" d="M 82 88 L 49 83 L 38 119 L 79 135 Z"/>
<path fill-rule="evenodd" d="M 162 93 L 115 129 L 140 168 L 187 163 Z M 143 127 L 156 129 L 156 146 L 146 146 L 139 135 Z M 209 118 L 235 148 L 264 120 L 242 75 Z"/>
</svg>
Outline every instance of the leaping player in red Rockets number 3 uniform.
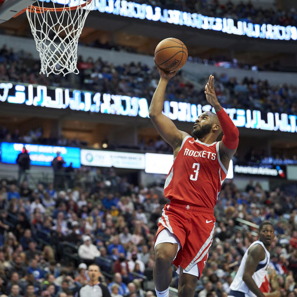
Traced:
<svg viewBox="0 0 297 297">
<path fill-rule="evenodd" d="M 213 207 L 236 152 L 239 132 L 217 100 L 212 75 L 205 94 L 217 114 L 210 111 L 200 114 L 192 136 L 178 130 L 162 114 L 165 89 L 176 71 L 157 68 L 161 78 L 149 117 L 161 137 L 172 146 L 174 163 L 164 187 L 164 194 L 171 201 L 165 205 L 158 222 L 153 277 L 157 297 L 168 297 L 173 262 L 179 273 L 178 296 L 191 297 L 208 257 L 216 221 Z M 222 131 L 223 139 L 217 142 Z"/>
</svg>

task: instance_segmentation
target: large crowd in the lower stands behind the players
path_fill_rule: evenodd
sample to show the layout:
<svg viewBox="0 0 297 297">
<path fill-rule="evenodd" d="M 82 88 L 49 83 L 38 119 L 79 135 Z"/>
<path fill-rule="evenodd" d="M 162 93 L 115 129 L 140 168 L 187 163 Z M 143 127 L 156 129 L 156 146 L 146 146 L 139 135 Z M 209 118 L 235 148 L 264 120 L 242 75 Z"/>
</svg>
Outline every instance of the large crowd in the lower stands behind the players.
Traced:
<svg viewBox="0 0 297 297">
<path fill-rule="evenodd" d="M 154 296 L 154 236 L 168 202 L 157 187 L 120 178 L 113 168 L 88 169 L 90 180 L 56 191 L 24 181 L 0 183 L 0 291 L 11 297 L 72 297 L 88 282 L 88 265 L 112 296 Z M 86 171 L 85 171 L 86 172 Z M 84 174 L 81 174 L 84 178 Z M 297 296 L 296 193 L 264 191 L 251 181 L 243 191 L 226 181 L 215 207 L 217 226 L 196 296 L 226 297 L 256 229 L 270 220 L 276 237 L 271 263 L 282 297 Z M 172 287 L 177 287 L 173 271 Z M 145 291 L 148 291 L 145 293 Z M 61 295 L 61 293 L 63 293 Z M 119 294 L 119 295 L 117 295 Z"/>
</svg>

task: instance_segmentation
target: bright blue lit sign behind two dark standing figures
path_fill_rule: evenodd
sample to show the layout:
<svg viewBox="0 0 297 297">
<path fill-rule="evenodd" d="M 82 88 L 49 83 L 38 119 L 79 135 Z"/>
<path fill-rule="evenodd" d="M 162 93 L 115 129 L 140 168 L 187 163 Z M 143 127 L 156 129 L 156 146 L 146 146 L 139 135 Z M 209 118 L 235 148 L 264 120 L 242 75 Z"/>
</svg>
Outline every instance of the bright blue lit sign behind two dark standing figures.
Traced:
<svg viewBox="0 0 297 297">
<path fill-rule="evenodd" d="M 23 146 L 27 149 L 31 165 L 51 166 L 52 161 L 60 152 L 60 156 L 66 162 L 64 166 L 69 166 L 72 162 L 72 167 L 80 168 L 80 149 L 69 148 L 64 146 L 51 146 L 40 144 L 22 144 L 22 143 L 1 143 L 1 162 L 16 164 L 16 159 L 19 153 L 22 152 Z"/>
</svg>

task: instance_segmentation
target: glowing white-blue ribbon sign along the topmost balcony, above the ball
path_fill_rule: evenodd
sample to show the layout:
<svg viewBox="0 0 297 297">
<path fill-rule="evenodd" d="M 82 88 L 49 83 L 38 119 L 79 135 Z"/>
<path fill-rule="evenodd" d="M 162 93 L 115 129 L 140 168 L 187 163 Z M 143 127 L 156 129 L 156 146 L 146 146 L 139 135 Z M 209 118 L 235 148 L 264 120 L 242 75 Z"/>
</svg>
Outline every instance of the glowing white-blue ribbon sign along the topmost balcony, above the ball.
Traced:
<svg viewBox="0 0 297 297">
<path fill-rule="evenodd" d="M 44 0 L 50 2 L 50 0 Z M 59 4 L 76 6 L 80 0 L 54 0 Z M 162 23 L 187 26 L 192 28 L 220 31 L 228 34 L 246 35 L 248 37 L 274 39 L 274 40 L 297 40 L 297 28 L 295 26 L 280 26 L 272 24 L 253 24 L 234 19 L 209 17 L 199 13 L 190 13 L 174 9 L 161 9 L 148 4 L 140 4 L 126 0 L 93 0 L 92 10 L 102 13 L 111 13 L 129 18 L 147 19 Z"/>
</svg>

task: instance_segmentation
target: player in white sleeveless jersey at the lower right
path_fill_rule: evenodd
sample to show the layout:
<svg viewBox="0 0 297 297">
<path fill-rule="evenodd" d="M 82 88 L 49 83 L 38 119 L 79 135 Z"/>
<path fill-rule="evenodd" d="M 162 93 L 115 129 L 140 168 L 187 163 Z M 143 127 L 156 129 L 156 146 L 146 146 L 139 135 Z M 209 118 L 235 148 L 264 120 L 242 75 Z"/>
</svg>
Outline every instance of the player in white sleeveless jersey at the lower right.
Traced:
<svg viewBox="0 0 297 297">
<path fill-rule="evenodd" d="M 264 221 L 259 227 L 259 240 L 253 242 L 244 253 L 239 269 L 230 285 L 229 296 L 265 297 L 259 289 L 266 275 L 270 260 L 270 245 L 274 239 L 274 227 Z"/>
</svg>

